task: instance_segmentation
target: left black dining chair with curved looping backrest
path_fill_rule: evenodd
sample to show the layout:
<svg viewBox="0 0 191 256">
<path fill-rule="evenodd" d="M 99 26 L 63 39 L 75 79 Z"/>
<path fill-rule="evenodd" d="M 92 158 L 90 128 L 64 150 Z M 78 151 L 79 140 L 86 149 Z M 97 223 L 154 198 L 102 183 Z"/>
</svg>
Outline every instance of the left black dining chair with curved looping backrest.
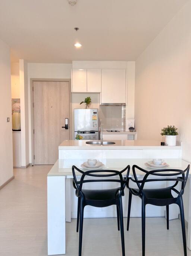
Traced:
<svg viewBox="0 0 191 256">
<path fill-rule="evenodd" d="M 77 181 L 75 170 L 82 174 L 80 181 Z M 123 180 L 122 173 L 127 170 L 126 178 Z M 73 185 L 76 189 L 76 196 L 78 197 L 78 202 L 80 203 L 79 208 L 79 256 L 82 255 L 82 231 L 83 231 L 83 219 L 84 219 L 84 207 L 86 205 L 91 205 L 94 207 L 107 207 L 110 205 L 116 205 L 117 207 L 117 216 L 118 216 L 118 230 L 120 223 L 120 233 L 121 233 L 121 243 L 122 243 L 122 255 L 125 256 L 125 243 L 124 243 L 124 230 L 123 230 L 123 207 L 122 207 L 122 196 L 124 196 L 124 189 L 126 182 L 128 180 L 130 171 L 130 166 L 126 166 L 122 171 L 115 170 L 92 170 L 83 172 L 78 169 L 76 166 L 72 166 L 73 174 Z M 92 179 L 84 180 L 85 177 L 96 177 L 96 178 L 107 178 L 107 177 L 116 177 L 119 179 Z M 120 187 L 115 189 L 101 189 L 101 190 L 89 190 L 82 189 L 84 183 L 89 182 L 118 182 Z M 78 219 L 77 219 L 78 222 Z M 77 224 L 78 228 L 78 224 Z"/>
</svg>

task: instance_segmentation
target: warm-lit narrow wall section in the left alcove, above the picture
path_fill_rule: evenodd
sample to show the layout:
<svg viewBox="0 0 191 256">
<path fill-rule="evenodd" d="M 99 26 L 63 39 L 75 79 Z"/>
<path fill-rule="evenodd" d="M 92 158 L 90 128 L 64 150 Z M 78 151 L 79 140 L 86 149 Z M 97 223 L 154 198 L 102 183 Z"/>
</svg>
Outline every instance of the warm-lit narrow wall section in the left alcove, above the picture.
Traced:
<svg viewBox="0 0 191 256">
<path fill-rule="evenodd" d="M 12 99 L 20 99 L 19 85 L 19 63 L 11 63 L 11 97 Z"/>
</svg>

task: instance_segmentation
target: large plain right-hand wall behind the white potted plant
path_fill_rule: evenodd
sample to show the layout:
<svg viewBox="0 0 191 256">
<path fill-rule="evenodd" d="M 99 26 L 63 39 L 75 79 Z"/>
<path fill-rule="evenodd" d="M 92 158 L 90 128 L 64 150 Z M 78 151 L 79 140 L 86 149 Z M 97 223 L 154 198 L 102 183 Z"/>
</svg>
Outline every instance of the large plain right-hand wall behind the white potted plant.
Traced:
<svg viewBox="0 0 191 256">
<path fill-rule="evenodd" d="M 182 158 L 191 162 L 191 1 L 136 60 L 135 121 L 138 139 L 161 139 L 178 127 Z M 187 208 L 188 202 L 184 204 Z M 185 211 L 188 219 L 188 211 Z"/>
</svg>

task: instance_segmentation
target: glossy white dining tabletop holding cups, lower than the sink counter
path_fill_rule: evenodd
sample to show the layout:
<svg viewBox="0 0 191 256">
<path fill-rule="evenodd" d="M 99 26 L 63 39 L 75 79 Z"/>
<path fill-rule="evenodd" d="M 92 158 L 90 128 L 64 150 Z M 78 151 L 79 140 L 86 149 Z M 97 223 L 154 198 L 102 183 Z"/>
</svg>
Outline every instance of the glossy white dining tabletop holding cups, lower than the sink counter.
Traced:
<svg viewBox="0 0 191 256">
<path fill-rule="evenodd" d="M 150 160 L 151 159 L 101 159 L 101 162 L 105 165 L 103 169 L 114 169 L 116 171 L 121 171 L 127 165 L 130 165 L 131 168 L 133 165 L 138 165 L 147 171 L 151 171 L 151 168 L 145 166 L 145 162 Z M 87 159 L 59 159 L 51 168 L 50 172 L 48 172 L 47 176 L 66 176 L 67 178 L 73 178 L 72 165 L 75 165 L 83 171 L 87 171 L 81 168 L 81 164 L 85 161 L 87 161 Z M 167 169 L 185 170 L 189 164 L 182 159 L 165 159 L 165 162 L 169 164 L 169 168 Z M 136 173 L 138 176 L 145 175 L 145 173 L 139 170 L 137 170 Z M 126 175 L 126 172 L 124 172 L 123 175 Z M 132 169 L 130 171 L 130 175 L 132 175 Z M 81 174 L 78 173 L 78 176 L 81 176 Z"/>
</svg>

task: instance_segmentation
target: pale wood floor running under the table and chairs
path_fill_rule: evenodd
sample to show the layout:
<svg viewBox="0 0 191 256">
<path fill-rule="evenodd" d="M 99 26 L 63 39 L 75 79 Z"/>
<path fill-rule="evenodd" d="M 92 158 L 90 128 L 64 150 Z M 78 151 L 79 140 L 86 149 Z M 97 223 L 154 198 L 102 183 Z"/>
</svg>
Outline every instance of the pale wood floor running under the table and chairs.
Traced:
<svg viewBox="0 0 191 256">
<path fill-rule="evenodd" d="M 46 177 L 51 166 L 15 169 L 15 179 L 0 190 L 0 256 L 47 256 Z M 126 219 L 124 219 L 126 229 Z M 66 223 L 66 256 L 78 256 L 76 220 Z M 125 230 L 126 255 L 141 256 L 141 219 Z M 117 221 L 85 219 L 82 256 L 120 256 Z M 179 220 L 146 219 L 146 256 L 182 256 Z M 188 250 L 188 255 L 191 252 Z"/>
</svg>

